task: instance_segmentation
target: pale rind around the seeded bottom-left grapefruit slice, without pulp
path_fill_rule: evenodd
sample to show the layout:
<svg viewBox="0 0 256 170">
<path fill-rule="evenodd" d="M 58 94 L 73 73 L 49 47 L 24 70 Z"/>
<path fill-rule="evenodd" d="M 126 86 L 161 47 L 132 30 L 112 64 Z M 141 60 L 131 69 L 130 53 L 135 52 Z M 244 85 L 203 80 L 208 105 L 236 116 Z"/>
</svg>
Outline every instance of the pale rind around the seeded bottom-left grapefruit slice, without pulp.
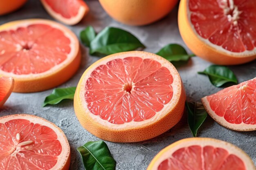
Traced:
<svg viewBox="0 0 256 170">
<path fill-rule="evenodd" d="M 27 119 L 30 122 L 41 124 L 43 126 L 47 126 L 56 132 L 58 136 L 58 140 L 61 142 L 62 150 L 61 154 L 58 155 L 58 161 L 54 167 L 50 170 L 68 170 L 70 166 L 70 145 L 67 141 L 67 137 L 64 135 L 64 132 L 52 122 L 43 119 L 42 117 L 27 115 L 27 114 L 19 114 L 19 115 L 8 115 L 4 117 L 0 117 L 0 123 L 4 124 L 7 121 L 12 119 Z"/>
</svg>

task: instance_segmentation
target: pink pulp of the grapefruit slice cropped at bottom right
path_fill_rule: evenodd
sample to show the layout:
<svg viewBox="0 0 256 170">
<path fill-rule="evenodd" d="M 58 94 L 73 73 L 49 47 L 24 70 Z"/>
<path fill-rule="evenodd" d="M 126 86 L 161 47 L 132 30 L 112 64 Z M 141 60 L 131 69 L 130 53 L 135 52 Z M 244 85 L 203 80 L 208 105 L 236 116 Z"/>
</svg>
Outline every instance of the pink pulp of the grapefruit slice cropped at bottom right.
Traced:
<svg viewBox="0 0 256 170">
<path fill-rule="evenodd" d="M 246 170 L 243 161 L 224 148 L 188 146 L 173 152 L 157 170 Z"/>
</svg>

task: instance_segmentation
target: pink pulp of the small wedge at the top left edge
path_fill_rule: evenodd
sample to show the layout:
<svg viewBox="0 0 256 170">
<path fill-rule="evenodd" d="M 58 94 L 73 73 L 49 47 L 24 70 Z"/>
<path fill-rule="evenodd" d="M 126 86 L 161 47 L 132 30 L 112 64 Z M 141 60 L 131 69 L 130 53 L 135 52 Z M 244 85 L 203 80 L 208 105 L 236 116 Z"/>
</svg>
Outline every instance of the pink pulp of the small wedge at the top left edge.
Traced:
<svg viewBox="0 0 256 170">
<path fill-rule="evenodd" d="M 83 0 L 45 0 L 53 11 L 59 13 L 64 18 L 72 18 L 78 14 Z"/>
</svg>

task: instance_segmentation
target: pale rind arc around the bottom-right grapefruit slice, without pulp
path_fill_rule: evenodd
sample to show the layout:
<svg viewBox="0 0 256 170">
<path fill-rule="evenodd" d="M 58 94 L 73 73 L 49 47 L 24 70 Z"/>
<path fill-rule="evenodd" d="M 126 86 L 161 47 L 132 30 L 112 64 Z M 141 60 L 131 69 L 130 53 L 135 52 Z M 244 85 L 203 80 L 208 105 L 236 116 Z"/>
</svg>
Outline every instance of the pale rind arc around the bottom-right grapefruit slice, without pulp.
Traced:
<svg viewBox="0 0 256 170">
<path fill-rule="evenodd" d="M 186 138 L 186 139 L 176 141 L 175 143 L 167 146 L 153 158 L 147 170 L 157 170 L 160 163 L 162 163 L 164 160 L 171 157 L 171 155 L 175 151 L 177 151 L 180 148 L 193 146 L 193 145 L 201 146 L 201 147 L 213 146 L 213 147 L 224 148 L 229 152 L 229 154 L 234 154 L 238 158 L 240 158 L 245 163 L 246 170 L 256 170 L 252 159 L 237 146 L 234 146 L 233 144 L 230 144 L 228 142 L 221 141 L 218 139 L 203 138 L 203 137 Z"/>
</svg>

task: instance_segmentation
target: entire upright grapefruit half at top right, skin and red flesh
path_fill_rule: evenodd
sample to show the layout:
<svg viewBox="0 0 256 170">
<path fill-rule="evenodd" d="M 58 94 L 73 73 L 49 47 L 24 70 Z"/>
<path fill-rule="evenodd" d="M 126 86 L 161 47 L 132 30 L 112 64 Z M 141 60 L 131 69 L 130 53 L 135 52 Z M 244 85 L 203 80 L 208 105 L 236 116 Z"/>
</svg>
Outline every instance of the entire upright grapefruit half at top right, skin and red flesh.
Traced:
<svg viewBox="0 0 256 170">
<path fill-rule="evenodd" d="M 181 0 L 180 34 L 199 57 L 222 65 L 256 59 L 253 0 Z"/>
</svg>

